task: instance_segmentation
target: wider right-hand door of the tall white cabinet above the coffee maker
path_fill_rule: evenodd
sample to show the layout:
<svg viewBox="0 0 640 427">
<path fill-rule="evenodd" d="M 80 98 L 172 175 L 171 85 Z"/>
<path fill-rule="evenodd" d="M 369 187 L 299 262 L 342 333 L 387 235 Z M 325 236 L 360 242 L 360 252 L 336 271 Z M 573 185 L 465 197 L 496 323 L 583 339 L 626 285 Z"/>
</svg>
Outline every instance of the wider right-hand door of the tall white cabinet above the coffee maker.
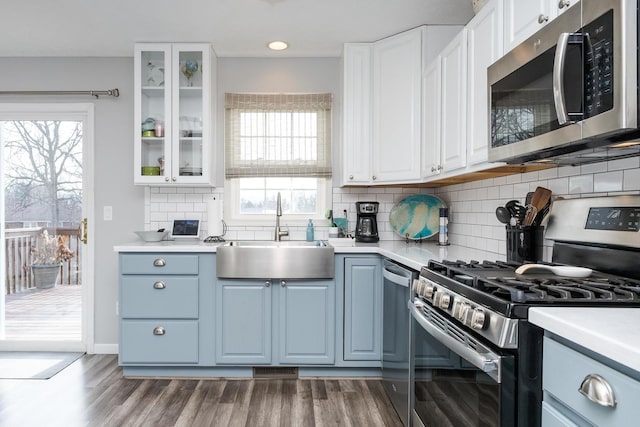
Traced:
<svg viewBox="0 0 640 427">
<path fill-rule="evenodd" d="M 420 27 L 374 43 L 374 183 L 420 179 L 423 37 Z"/>
</svg>

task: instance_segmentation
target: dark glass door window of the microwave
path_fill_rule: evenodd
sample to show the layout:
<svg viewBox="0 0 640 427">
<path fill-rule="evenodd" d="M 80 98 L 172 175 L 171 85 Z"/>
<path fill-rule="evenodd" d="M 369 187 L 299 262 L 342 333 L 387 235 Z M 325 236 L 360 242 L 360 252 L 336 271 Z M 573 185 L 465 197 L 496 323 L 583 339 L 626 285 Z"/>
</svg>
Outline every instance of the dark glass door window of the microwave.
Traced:
<svg viewBox="0 0 640 427">
<path fill-rule="evenodd" d="M 556 47 L 491 86 L 491 147 L 540 136 L 561 127 L 553 93 Z M 567 45 L 564 101 L 569 121 L 583 117 L 582 37 Z"/>
</svg>

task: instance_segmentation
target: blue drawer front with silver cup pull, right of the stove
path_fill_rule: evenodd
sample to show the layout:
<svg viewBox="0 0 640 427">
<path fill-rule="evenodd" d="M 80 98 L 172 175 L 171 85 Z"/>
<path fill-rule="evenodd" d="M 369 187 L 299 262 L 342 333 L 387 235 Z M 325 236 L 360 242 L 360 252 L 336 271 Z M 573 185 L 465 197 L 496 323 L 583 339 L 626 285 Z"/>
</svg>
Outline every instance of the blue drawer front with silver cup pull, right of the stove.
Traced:
<svg viewBox="0 0 640 427">
<path fill-rule="evenodd" d="M 610 385 L 615 407 L 601 406 L 580 394 L 582 381 L 593 374 Z M 547 393 L 594 425 L 637 425 L 640 382 L 548 337 L 544 339 L 542 385 Z"/>
</svg>

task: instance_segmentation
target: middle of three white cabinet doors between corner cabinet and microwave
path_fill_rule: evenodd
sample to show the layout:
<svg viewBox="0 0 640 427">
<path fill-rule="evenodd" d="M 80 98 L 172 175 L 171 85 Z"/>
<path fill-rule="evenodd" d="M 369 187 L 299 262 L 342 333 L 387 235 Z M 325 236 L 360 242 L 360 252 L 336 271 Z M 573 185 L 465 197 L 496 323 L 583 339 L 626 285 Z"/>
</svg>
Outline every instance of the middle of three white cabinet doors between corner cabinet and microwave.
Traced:
<svg viewBox="0 0 640 427">
<path fill-rule="evenodd" d="M 463 29 L 442 51 L 443 172 L 467 164 L 467 30 Z"/>
</svg>

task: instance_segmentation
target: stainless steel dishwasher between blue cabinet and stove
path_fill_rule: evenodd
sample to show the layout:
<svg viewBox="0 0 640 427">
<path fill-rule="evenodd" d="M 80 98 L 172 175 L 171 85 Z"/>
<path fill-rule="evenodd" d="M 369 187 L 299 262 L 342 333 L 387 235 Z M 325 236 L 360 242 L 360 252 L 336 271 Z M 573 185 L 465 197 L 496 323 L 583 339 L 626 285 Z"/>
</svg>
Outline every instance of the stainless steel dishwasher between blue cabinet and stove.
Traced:
<svg viewBox="0 0 640 427">
<path fill-rule="evenodd" d="M 409 419 L 409 301 L 418 272 L 384 260 L 382 382 L 405 426 Z"/>
</svg>

